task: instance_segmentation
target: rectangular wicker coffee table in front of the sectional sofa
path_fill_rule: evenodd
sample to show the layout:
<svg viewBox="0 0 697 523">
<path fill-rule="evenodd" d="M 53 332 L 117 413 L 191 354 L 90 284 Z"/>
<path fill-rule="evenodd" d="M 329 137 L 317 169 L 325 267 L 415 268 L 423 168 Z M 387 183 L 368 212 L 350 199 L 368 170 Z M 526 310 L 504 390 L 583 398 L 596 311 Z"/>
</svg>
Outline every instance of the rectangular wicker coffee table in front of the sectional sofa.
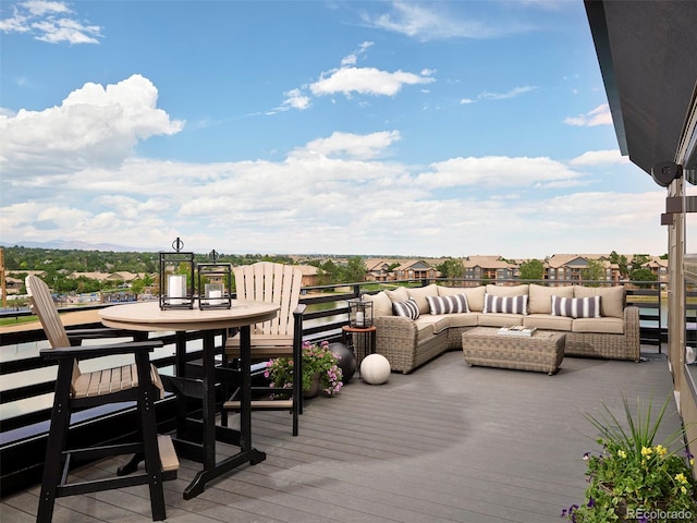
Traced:
<svg viewBox="0 0 697 523">
<path fill-rule="evenodd" d="M 537 330 L 533 336 L 499 335 L 496 327 L 475 327 L 462 335 L 462 350 L 470 367 L 535 370 L 552 376 L 564 358 L 566 335 Z"/>
</svg>

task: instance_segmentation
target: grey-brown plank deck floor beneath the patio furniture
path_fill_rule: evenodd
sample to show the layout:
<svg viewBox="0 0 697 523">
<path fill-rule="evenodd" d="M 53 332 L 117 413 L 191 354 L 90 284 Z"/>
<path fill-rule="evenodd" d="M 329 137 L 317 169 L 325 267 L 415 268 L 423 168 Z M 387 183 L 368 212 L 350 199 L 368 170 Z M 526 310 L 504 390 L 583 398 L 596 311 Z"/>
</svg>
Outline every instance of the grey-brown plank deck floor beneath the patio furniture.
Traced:
<svg viewBox="0 0 697 523">
<path fill-rule="evenodd" d="M 182 491 L 197 464 L 183 460 L 166 484 L 167 521 L 559 522 L 562 508 L 583 500 L 583 453 L 597 450 L 580 410 L 601 400 L 620 409 L 623 392 L 661 403 L 672 384 L 655 352 L 640 364 L 566 357 L 553 377 L 470 368 L 449 352 L 382 386 L 354 377 L 338 397 L 307 402 L 298 437 L 288 413 L 255 412 L 254 445 L 267 460 L 188 501 Z M 667 433 L 677 427 L 673 411 Z M 34 521 L 37 491 L 3 499 L 0 520 Z M 54 512 L 56 523 L 146 521 L 146 487 L 61 498 Z"/>
</svg>

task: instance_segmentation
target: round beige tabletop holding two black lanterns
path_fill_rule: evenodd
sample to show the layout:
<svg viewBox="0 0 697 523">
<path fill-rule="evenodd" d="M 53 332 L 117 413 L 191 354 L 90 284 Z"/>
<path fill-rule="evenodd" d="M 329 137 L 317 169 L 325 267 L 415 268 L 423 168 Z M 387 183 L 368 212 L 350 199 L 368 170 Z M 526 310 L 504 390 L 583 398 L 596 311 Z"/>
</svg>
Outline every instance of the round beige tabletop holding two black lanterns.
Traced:
<svg viewBox="0 0 697 523">
<path fill-rule="evenodd" d="M 233 300 L 232 308 L 169 308 L 159 302 L 114 305 L 99 311 L 107 327 L 139 331 L 212 330 L 243 327 L 273 319 L 280 307 L 273 303 Z"/>
</svg>

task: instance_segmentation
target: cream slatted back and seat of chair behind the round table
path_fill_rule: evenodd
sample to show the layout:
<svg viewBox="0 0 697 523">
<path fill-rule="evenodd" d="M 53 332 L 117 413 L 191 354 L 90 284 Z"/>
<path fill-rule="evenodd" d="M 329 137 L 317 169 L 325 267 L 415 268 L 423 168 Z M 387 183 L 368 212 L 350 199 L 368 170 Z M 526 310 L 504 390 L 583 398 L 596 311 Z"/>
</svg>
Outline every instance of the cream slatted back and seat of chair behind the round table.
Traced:
<svg viewBox="0 0 697 523">
<path fill-rule="evenodd" d="M 273 303 L 281 309 L 276 318 L 252 326 L 253 336 L 293 336 L 293 311 L 297 307 L 303 271 L 291 265 L 259 262 L 233 269 L 240 300 Z"/>
</svg>

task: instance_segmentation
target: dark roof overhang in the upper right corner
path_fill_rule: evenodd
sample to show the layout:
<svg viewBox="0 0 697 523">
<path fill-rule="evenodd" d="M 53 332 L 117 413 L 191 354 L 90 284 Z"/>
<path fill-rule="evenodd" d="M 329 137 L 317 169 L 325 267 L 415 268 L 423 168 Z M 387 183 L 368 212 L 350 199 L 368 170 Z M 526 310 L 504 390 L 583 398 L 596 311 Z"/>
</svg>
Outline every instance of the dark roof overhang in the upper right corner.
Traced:
<svg viewBox="0 0 697 523">
<path fill-rule="evenodd" d="M 620 150 L 674 161 L 697 85 L 697 2 L 586 0 Z"/>
</svg>

